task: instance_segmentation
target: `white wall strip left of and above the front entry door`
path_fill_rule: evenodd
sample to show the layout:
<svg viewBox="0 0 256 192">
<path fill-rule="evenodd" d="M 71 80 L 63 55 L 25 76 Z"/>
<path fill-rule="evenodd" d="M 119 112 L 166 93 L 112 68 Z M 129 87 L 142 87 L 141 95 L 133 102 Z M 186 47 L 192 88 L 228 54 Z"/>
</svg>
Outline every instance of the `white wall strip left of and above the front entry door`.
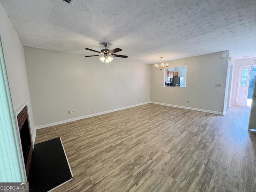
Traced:
<svg viewBox="0 0 256 192">
<path fill-rule="evenodd" d="M 238 86 L 238 76 L 239 76 L 239 67 L 243 65 L 252 65 L 252 60 L 254 58 L 247 59 L 237 59 L 234 66 L 234 75 L 233 75 L 233 86 L 231 94 L 231 104 L 236 104 L 236 92 Z"/>
</svg>

